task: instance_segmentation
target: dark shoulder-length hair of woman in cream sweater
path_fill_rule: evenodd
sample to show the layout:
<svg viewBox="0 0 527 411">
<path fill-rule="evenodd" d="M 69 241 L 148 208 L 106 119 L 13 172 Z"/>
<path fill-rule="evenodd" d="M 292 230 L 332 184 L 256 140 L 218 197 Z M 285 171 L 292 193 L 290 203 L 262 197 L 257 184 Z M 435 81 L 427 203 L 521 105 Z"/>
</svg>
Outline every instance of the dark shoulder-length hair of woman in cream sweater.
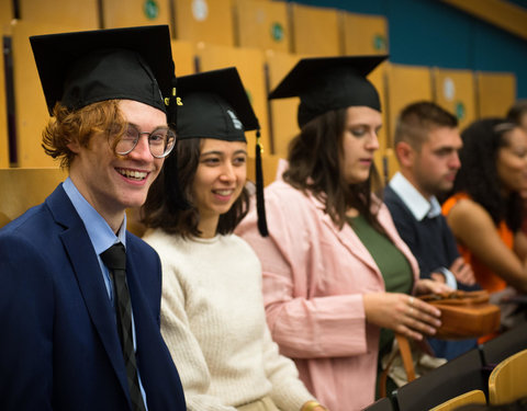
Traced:
<svg viewBox="0 0 527 411">
<path fill-rule="evenodd" d="M 200 237 L 200 213 L 193 204 L 192 184 L 200 162 L 202 141 L 201 138 L 177 140 L 142 207 L 142 222 L 146 227 L 161 228 L 183 238 Z M 248 206 L 249 194 L 244 187 L 231 209 L 220 216 L 216 233 L 233 232 L 246 216 Z"/>
</svg>

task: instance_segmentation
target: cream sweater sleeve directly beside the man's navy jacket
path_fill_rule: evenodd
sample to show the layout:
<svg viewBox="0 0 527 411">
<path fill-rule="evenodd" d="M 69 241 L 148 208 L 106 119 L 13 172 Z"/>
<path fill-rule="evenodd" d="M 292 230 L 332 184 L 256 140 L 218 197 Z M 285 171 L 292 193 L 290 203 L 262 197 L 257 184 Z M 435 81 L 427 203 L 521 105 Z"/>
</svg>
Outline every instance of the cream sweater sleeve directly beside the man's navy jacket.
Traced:
<svg viewBox="0 0 527 411">
<path fill-rule="evenodd" d="M 157 248 L 162 264 L 161 334 L 178 368 L 189 411 L 235 411 L 208 393 L 211 375 L 184 310 L 184 284 L 170 262 L 170 250 Z"/>
</svg>

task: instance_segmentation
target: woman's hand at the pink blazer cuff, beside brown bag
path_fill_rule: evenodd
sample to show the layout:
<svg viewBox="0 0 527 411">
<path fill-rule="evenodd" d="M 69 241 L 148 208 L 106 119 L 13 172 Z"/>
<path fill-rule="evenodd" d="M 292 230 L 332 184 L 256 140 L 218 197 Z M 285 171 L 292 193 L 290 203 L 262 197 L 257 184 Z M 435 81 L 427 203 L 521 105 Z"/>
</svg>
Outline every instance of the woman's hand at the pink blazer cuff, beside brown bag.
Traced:
<svg viewBox="0 0 527 411">
<path fill-rule="evenodd" d="M 362 299 L 368 322 L 414 340 L 423 340 L 423 334 L 434 335 L 441 324 L 441 311 L 406 294 L 372 293 L 365 294 Z"/>
</svg>

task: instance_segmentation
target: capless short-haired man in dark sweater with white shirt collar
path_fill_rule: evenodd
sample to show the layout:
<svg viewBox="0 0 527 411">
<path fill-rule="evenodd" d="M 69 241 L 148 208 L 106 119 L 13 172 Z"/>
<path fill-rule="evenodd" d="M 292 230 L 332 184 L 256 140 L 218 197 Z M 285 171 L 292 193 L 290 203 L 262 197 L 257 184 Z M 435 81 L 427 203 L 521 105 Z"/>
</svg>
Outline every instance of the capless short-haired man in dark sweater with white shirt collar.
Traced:
<svg viewBox="0 0 527 411">
<path fill-rule="evenodd" d="M 421 277 L 471 289 L 475 283 L 473 272 L 459 255 L 436 198 L 452 189 L 461 167 L 457 118 L 431 102 L 410 104 L 399 116 L 394 144 L 400 172 L 384 189 L 384 203 L 417 259 Z M 475 346 L 475 340 L 429 342 L 437 356 L 448 359 Z"/>
</svg>

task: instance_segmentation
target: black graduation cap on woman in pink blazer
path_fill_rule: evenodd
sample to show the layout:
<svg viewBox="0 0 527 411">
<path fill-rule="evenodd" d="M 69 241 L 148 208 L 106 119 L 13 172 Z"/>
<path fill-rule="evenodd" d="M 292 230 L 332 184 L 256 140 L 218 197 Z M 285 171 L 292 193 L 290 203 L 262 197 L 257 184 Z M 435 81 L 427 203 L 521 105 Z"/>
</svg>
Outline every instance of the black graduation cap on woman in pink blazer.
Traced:
<svg viewBox="0 0 527 411">
<path fill-rule="evenodd" d="M 366 76 L 386 58 L 382 55 L 301 59 L 269 99 L 300 96 L 300 127 L 332 110 L 366 105 L 381 111 L 379 93 Z"/>
</svg>

